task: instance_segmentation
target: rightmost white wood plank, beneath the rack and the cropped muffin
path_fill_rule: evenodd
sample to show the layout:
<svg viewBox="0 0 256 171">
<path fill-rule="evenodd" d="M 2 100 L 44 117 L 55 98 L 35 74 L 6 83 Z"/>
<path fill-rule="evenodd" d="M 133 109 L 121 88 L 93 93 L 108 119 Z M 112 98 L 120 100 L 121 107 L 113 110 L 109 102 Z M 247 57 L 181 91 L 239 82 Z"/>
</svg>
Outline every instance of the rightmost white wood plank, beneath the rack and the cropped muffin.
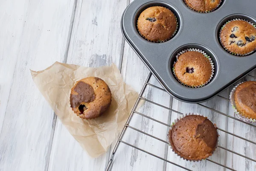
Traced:
<svg viewBox="0 0 256 171">
<path fill-rule="evenodd" d="M 256 76 L 256 72 L 255 71 L 251 72 L 250 75 Z M 246 76 L 244 79 L 242 79 L 242 81 L 256 81 L 256 79 L 250 76 Z M 231 88 L 230 88 L 230 91 L 231 91 Z M 229 105 L 229 115 L 237 118 L 237 116 L 234 114 L 234 110 L 231 107 L 231 105 Z M 235 121 L 234 119 L 228 119 L 227 130 L 230 133 L 234 133 L 238 136 L 241 136 L 243 138 L 256 142 L 256 138 L 255 138 L 256 128 L 253 128 L 250 125 L 245 125 L 244 123 Z M 228 134 L 227 147 L 228 149 L 235 151 L 236 153 L 245 155 L 247 157 L 250 157 L 251 159 L 256 160 L 256 145 L 250 142 L 247 142 L 243 139 L 240 139 Z M 227 153 L 227 165 L 238 171 L 256 170 L 256 162 L 253 162 L 250 159 L 245 159 L 244 157 L 241 157 L 237 154 L 233 154 L 231 152 Z"/>
</svg>

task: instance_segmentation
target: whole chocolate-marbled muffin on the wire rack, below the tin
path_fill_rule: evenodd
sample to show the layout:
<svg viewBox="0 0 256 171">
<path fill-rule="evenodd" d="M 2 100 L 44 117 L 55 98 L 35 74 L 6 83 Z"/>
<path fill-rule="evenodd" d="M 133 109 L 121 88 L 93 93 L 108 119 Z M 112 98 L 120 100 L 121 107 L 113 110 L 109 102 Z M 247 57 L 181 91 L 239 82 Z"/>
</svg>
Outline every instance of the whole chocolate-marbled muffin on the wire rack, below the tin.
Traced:
<svg viewBox="0 0 256 171">
<path fill-rule="evenodd" d="M 216 129 L 207 117 L 188 115 L 169 130 L 169 141 L 180 157 L 188 160 L 205 159 L 212 155 L 217 146 Z"/>
</svg>

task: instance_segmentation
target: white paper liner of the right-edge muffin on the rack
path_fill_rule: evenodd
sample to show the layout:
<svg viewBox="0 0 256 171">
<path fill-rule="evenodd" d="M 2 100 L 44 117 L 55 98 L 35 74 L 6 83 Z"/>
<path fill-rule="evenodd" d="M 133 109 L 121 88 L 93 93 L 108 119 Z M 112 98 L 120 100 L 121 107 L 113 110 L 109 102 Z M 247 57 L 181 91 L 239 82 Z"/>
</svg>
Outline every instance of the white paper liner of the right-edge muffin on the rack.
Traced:
<svg viewBox="0 0 256 171">
<path fill-rule="evenodd" d="M 241 82 L 240 84 L 242 84 L 243 82 Z M 240 84 L 237 84 L 236 87 L 238 87 Z M 251 118 L 248 118 L 248 117 L 245 117 L 242 115 L 242 113 L 236 109 L 236 103 L 235 103 L 235 91 L 236 91 L 236 87 L 234 87 L 231 92 L 230 92 L 230 102 L 231 102 L 231 106 L 236 114 L 236 116 L 244 121 L 244 122 L 247 122 L 249 124 L 253 124 L 253 123 L 256 123 L 256 119 L 251 119 Z"/>
</svg>

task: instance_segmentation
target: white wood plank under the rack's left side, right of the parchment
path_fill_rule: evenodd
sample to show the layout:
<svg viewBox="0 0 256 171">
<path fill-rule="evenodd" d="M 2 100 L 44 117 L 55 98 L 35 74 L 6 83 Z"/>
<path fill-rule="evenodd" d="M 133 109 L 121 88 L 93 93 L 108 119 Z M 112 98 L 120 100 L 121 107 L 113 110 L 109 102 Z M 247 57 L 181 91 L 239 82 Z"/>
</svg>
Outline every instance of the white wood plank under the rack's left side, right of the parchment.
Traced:
<svg viewBox="0 0 256 171">
<path fill-rule="evenodd" d="M 148 69 L 145 67 L 140 58 L 135 54 L 135 52 L 125 43 L 125 50 L 123 55 L 122 64 L 122 75 L 125 78 L 125 82 L 132 85 L 137 91 L 140 91 L 147 76 Z M 152 77 L 152 84 L 159 83 Z M 157 103 L 161 103 L 169 107 L 172 100 L 166 92 L 158 90 L 156 88 L 148 86 L 143 94 L 146 99 L 152 100 Z M 140 113 L 146 116 L 152 117 L 154 119 L 160 120 L 169 124 L 170 112 L 167 109 L 158 107 L 149 102 L 137 109 Z M 134 114 L 131 123 L 129 124 L 134 128 L 142 130 L 145 133 L 156 136 L 160 139 L 166 140 L 166 132 L 168 127 L 161 125 L 155 121 L 142 117 L 138 114 Z M 135 145 L 143 150 L 150 151 L 153 154 L 159 155 L 163 158 L 166 157 L 167 145 L 157 139 L 146 136 L 143 133 L 127 129 L 123 141 Z M 114 145 L 111 146 L 111 151 Z M 165 170 L 166 163 L 160 159 L 152 157 L 137 149 L 131 148 L 128 145 L 120 145 L 119 149 L 116 151 L 112 170 L 122 170 L 122 171 L 141 171 L 141 170 Z"/>
</svg>

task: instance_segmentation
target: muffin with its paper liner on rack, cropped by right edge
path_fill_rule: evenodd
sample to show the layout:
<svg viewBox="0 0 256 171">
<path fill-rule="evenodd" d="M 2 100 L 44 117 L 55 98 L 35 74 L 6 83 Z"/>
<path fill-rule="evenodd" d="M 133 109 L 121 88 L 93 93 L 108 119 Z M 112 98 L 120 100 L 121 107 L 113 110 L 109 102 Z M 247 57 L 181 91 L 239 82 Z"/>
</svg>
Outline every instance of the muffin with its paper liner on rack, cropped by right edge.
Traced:
<svg viewBox="0 0 256 171">
<path fill-rule="evenodd" d="M 230 101 L 239 119 L 256 122 L 256 81 L 246 81 L 234 87 Z"/>
</svg>

